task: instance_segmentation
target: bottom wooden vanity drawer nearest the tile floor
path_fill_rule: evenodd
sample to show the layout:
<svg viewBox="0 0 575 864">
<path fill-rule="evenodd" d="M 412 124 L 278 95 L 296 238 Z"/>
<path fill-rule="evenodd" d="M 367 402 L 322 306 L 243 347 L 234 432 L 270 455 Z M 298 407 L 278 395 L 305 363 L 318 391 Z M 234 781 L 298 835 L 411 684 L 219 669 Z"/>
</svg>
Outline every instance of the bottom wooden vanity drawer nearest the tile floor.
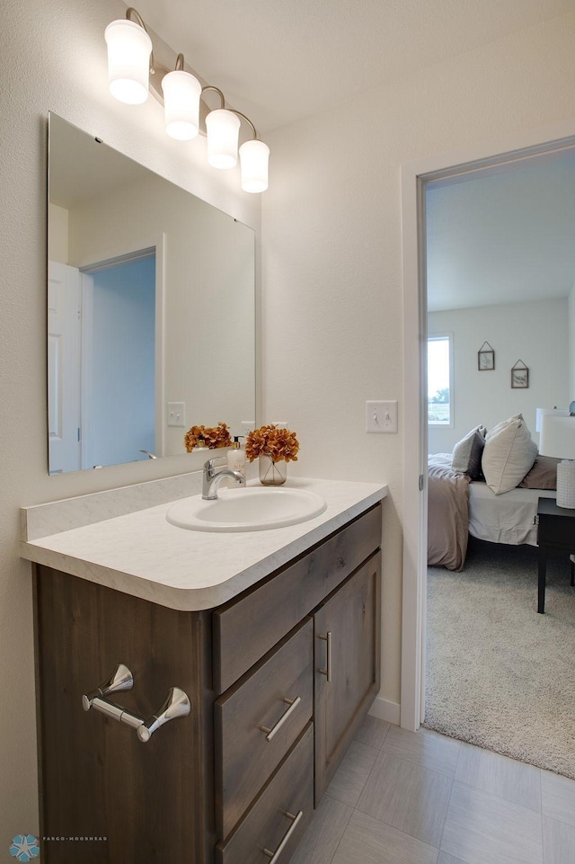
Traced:
<svg viewBox="0 0 575 864">
<path fill-rule="evenodd" d="M 314 726 L 310 723 L 231 837 L 216 847 L 216 864 L 288 861 L 314 811 Z"/>
</svg>

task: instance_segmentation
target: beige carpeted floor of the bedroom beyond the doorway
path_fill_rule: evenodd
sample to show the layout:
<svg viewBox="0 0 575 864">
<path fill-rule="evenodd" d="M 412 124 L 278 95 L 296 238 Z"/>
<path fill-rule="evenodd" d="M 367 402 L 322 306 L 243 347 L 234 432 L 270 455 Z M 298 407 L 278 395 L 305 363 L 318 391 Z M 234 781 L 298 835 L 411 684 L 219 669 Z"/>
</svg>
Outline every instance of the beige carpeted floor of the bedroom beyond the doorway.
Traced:
<svg viewBox="0 0 575 864">
<path fill-rule="evenodd" d="M 465 569 L 428 571 L 424 726 L 575 779 L 575 588 L 537 550 L 470 539 Z"/>
</svg>

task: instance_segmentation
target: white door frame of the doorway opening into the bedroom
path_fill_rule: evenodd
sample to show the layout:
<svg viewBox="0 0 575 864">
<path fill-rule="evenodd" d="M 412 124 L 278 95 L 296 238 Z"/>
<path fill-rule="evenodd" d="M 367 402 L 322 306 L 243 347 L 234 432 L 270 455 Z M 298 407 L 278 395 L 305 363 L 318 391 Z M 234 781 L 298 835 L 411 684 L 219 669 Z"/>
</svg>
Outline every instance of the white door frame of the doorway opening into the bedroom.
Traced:
<svg viewBox="0 0 575 864">
<path fill-rule="evenodd" d="M 575 120 L 514 132 L 402 165 L 403 608 L 400 724 L 416 731 L 425 710 L 427 584 L 427 285 L 425 189 L 575 146 Z M 420 478 L 421 482 L 420 482 Z"/>
</svg>

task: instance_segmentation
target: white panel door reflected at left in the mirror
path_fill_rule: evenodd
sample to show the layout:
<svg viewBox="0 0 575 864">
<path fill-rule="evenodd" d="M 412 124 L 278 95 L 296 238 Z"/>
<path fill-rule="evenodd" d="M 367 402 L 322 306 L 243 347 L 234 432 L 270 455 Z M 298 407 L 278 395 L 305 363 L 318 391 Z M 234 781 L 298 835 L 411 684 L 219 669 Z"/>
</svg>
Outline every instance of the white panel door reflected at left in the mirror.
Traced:
<svg viewBox="0 0 575 864">
<path fill-rule="evenodd" d="M 67 264 L 48 271 L 49 473 L 80 468 L 81 276 Z"/>
</svg>

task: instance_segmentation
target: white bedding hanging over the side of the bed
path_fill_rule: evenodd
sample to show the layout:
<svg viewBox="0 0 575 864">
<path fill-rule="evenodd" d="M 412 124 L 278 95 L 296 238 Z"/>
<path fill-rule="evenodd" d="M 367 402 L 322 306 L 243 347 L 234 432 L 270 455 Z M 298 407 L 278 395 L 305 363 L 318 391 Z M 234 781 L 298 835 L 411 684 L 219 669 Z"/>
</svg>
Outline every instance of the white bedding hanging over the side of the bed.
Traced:
<svg viewBox="0 0 575 864">
<path fill-rule="evenodd" d="M 511 489 L 501 495 L 486 483 L 469 484 L 469 533 L 491 543 L 537 545 L 535 514 L 538 498 L 554 498 L 554 489 Z"/>
</svg>

